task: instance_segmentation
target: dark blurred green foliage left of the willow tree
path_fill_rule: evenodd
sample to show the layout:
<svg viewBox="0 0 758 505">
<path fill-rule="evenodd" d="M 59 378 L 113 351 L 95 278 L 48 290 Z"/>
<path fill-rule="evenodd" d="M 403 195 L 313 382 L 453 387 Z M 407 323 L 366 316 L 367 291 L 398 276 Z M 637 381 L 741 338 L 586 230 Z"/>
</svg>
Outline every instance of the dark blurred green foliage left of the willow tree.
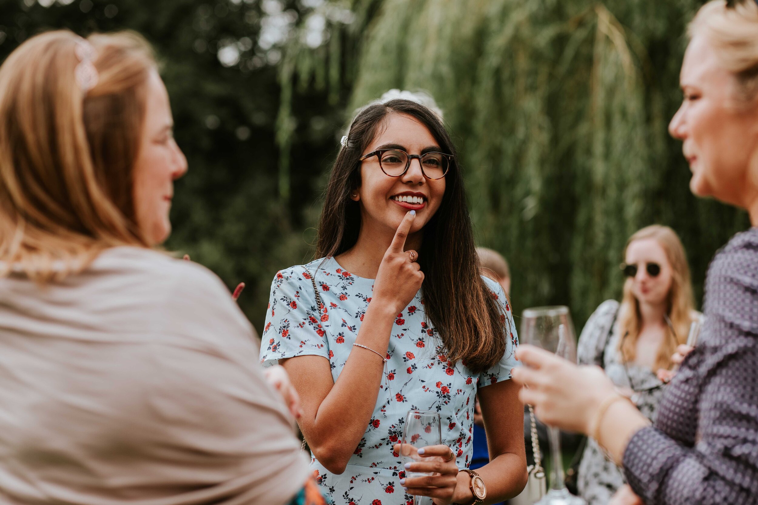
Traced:
<svg viewBox="0 0 758 505">
<path fill-rule="evenodd" d="M 314 188 L 334 151 L 328 126 L 337 122 L 330 117 L 336 113 L 318 94 L 294 99 L 299 121 L 289 142 L 295 182 L 292 197 L 280 200 L 274 130 L 280 86 L 274 55 L 256 43 L 267 15 L 261 2 L 63 3 L 0 2 L 0 61 L 42 30 L 86 35 L 129 29 L 152 42 L 171 97 L 177 142 L 189 161 L 189 172 L 176 183 L 174 231 L 166 247 L 190 254 L 230 288 L 246 282 L 240 307 L 261 329 L 274 274 L 309 257 L 313 235 L 306 229 L 318 214 L 312 209 Z M 297 5 L 290 3 L 283 8 L 296 17 Z M 239 61 L 227 61 L 227 67 L 219 51 L 230 45 Z"/>
</svg>

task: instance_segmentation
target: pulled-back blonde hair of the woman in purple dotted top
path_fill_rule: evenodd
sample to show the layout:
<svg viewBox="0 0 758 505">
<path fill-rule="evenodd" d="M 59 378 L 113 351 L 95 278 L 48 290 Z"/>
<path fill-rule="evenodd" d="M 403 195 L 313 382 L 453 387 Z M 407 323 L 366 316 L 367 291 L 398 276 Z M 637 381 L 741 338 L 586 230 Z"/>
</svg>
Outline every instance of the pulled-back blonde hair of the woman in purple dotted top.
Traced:
<svg viewBox="0 0 758 505">
<path fill-rule="evenodd" d="M 712 0 L 697 11 L 690 37 L 706 36 L 726 70 L 735 74 L 738 101 L 758 101 L 758 3 L 738 0 L 729 7 L 725 0 Z"/>
</svg>

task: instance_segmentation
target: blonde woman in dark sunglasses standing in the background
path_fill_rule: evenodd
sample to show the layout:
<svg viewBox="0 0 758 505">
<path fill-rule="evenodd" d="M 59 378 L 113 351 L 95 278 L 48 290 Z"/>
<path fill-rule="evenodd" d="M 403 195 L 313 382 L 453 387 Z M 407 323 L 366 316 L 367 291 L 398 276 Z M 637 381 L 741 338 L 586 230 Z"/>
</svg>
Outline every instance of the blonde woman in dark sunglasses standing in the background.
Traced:
<svg viewBox="0 0 758 505">
<path fill-rule="evenodd" d="M 693 310 L 690 269 L 684 247 L 668 226 L 647 226 L 631 235 L 622 271 L 621 304 L 608 300 L 590 316 L 579 338 L 578 358 L 601 366 L 637 409 L 653 419 L 663 393 L 659 369 L 684 344 Z M 605 505 L 622 485 L 622 470 L 594 440 L 588 440 L 578 469 L 578 491 L 589 505 Z"/>
</svg>

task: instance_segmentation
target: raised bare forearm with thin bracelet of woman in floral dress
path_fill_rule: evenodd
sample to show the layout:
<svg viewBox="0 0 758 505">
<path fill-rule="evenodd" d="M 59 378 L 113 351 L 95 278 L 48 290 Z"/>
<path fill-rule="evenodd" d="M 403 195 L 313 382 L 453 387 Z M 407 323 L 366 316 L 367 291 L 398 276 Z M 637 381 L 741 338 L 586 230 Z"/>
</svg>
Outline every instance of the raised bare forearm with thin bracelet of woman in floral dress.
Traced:
<svg viewBox="0 0 758 505">
<path fill-rule="evenodd" d="M 371 422 L 384 380 L 382 359 L 387 353 L 394 316 L 381 305 L 369 304 L 356 344 L 365 345 L 376 353 L 352 348 L 340 376 L 318 405 L 307 429 L 309 444 L 314 447 L 315 454 L 323 447 L 324 452 L 339 462 L 338 466 L 347 463 Z M 340 419 L 339 430 L 334 429 L 335 419 Z"/>
</svg>

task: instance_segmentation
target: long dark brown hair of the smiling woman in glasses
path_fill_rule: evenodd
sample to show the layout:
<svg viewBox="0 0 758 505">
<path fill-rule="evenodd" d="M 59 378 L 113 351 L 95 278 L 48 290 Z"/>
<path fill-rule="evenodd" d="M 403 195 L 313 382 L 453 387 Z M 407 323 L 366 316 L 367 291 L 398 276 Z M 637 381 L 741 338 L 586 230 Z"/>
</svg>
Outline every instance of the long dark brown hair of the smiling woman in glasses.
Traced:
<svg viewBox="0 0 758 505">
<path fill-rule="evenodd" d="M 318 226 L 317 257 L 337 256 L 352 248 L 361 226 L 359 203 L 349 198 L 361 184 L 359 157 L 390 114 L 407 114 L 426 126 L 442 151 L 455 147 L 437 115 L 415 101 L 395 99 L 359 112 L 347 145 L 334 163 Z M 445 194 L 437 213 L 424 226 L 418 263 L 424 311 L 446 347 L 447 359 L 479 373 L 500 361 L 510 338 L 508 318 L 481 278 L 468 215 L 463 179 L 454 161 L 445 176 Z"/>
</svg>

